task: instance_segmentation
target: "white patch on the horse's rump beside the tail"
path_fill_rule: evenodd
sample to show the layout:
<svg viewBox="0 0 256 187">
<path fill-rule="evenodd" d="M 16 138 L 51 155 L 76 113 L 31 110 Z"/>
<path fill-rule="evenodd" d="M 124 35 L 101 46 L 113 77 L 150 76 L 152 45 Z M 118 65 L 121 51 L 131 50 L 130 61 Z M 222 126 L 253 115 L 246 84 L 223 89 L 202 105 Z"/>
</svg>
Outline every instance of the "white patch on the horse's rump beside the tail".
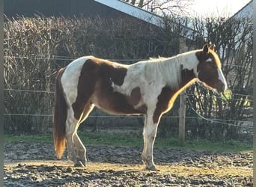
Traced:
<svg viewBox="0 0 256 187">
<path fill-rule="evenodd" d="M 67 100 L 67 104 L 69 106 L 76 102 L 77 86 L 82 66 L 85 64 L 85 61 L 87 61 L 90 58 L 94 57 L 84 56 L 72 61 L 70 64 L 68 64 L 66 70 L 61 76 L 61 84 Z"/>
</svg>

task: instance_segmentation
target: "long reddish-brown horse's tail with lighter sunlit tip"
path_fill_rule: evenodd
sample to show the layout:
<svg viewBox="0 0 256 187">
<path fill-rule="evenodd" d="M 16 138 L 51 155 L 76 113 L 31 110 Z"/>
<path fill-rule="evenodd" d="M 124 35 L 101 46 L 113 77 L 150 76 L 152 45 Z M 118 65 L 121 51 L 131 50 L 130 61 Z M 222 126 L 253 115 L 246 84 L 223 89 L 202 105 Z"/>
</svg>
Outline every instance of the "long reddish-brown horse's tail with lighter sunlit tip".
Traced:
<svg viewBox="0 0 256 187">
<path fill-rule="evenodd" d="M 67 102 L 64 98 L 63 88 L 61 85 L 61 76 L 64 68 L 58 71 L 55 81 L 55 103 L 53 108 L 53 140 L 55 153 L 58 159 L 64 153 L 66 146 L 66 120 L 67 120 Z"/>
</svg>

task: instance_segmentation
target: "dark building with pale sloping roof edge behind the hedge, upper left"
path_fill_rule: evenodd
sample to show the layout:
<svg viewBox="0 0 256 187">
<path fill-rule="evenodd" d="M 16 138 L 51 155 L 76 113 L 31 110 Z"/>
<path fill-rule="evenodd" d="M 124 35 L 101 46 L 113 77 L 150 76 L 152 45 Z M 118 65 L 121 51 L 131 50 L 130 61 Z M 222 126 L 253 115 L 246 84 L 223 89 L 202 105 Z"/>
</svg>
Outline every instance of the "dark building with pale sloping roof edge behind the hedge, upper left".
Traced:
<svg viewBox="0 0 256 187">
<path fill-rule="evenodd" d="M 34 15 L 43 16 L 101 16 L 104 18 L 118 18 L 129 16 L 147 22 L 156 27 L 163 27 L 162 16 L 151 13 L 121 0 L 4 0 L 4 14 L 7 17 Z M 180 34 L 189 40 L 195 33 L 186 28 L 186 34 Z"/>
</svg>

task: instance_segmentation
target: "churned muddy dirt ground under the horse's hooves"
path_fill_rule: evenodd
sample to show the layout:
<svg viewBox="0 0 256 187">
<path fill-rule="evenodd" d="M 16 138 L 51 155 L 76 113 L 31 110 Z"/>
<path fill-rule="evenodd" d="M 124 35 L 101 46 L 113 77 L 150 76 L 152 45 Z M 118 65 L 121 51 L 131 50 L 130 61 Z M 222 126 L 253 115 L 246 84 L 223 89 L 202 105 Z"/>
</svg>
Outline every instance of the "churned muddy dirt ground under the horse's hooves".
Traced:
<svg viewBox="0 0 256 187">
<path fill-rule="evenodd" d="M 141 151 L 88 145 L 88 166 L 75 168 L 52 144 L 4 144 L 4 186 L 252 186 L 252 153 L 154 148 L 159 171 L 146 171 Z"/>
</svg>

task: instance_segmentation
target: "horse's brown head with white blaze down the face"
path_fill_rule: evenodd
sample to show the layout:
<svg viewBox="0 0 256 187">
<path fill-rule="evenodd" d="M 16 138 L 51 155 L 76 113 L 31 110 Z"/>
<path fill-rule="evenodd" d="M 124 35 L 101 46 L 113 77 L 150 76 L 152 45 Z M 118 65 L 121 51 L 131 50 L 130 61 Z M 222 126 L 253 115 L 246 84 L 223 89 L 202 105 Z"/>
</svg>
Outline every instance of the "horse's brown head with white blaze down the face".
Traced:
<svg viewBox="0 0 256 187">
<path fill-rule="evenodd" d="M 227 82 L 222 73 L 219 56 L 214 52 L 214 48 L 214 45 L 205 44 L 203 49 L 196 52 L 199 61 L 198 79 L 218 93 L 222 93 L 227 88 Z"/>
</svg>

